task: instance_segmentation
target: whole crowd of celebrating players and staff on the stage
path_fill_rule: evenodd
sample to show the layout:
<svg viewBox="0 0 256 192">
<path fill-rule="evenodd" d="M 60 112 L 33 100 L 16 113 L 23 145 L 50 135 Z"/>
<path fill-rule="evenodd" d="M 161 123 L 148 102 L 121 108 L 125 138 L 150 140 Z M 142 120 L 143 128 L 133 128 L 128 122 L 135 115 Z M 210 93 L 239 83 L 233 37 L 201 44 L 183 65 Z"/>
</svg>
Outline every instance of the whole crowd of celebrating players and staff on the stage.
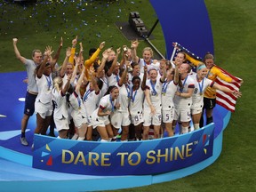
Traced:
<svg viewBox="0 0 256 192">
<path fill-rule="evenodd" d="M 20 56 L 17 41 L 13 39 L 14 52 L 28 72 L 21 122 L 23 145 L 28 145 L 25 130 L 34 110 L 38 134 L 46 134 L 52 120 L 61 139 L 68 138 L 71 130 L 75 130 L 73 140 L 93 140 L 94 130 L 102 142 L 115 141 L 117 135 L 121 135 L 121 141 L 148 140 L 150 129 L 154 130 L 154 139 L 161 138 L 164 131 L 169 137 L 191 132 L 191 120 L 194 130 L 199 129 L 205 106 L 204 92 L 208 88 L 241 96 L 241 92 L 214 83 L 211 76 L 218 74 L 212 74 L 216 71 L 212 70 L 213 56 L 209 58 L 209 55 L 204 62 L 194 60 L 185 52 L 178 52 L 174 60 L 153 60 L 152 49 L 146 47 L 140 58 L 137 56 L 139 42 L 134 40 L 130 48 L 124 45 L 116 52 L 112 48 L 102 51 L 100 60 L 99 54 L 105 45 L 102 42 L 98 49 L 91 49 L 89 59 L 84 60 L 83 44 L 79 44 L 79 50 L 76 48 L 76 36 L 58 68 L 62 39 L 54 57 L 52 47 L 47 46 L 44 55 L 34 51 L 33 60 Z M 192 72 L 187 59 L 196 65 L 196 72 Z M 210 100 L 212 103 L 214 98 Z M 207 104 L 206 111 L 214 105 Z M 175 132 L 177 123 L 180 132 Z M 206 124 L 209 123 L 207 116 Z"/>
</svg>

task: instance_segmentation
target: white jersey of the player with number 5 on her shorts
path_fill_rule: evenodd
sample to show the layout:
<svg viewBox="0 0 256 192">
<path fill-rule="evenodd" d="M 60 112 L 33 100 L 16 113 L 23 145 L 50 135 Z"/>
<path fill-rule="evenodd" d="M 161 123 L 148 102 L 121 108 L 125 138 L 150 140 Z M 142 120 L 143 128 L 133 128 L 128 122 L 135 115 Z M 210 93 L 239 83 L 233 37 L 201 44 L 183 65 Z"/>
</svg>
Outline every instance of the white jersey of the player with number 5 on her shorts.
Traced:
<svg viewBox="0 0 256 192">
<path fill-rule="evenodd" d="M 162 87 L 162 109 L 168 110 L 174 107 L 173 98 L 177 91 L 177 84 L 171 82 L 164 82 Z"/>
</svg>

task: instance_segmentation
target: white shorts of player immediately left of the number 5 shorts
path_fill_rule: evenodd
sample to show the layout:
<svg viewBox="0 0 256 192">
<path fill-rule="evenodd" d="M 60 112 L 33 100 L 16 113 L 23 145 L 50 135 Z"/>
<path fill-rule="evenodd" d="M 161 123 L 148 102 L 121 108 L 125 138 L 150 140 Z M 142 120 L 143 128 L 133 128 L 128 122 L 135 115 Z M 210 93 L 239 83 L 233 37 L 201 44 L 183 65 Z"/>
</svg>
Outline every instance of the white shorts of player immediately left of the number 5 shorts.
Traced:
<svg viewBox="0 0 256 192">
<path fill-rule="evenodd" d="M 161 122 L 162 122 L 161 109 L 160 110 L 156 110 L 156 114 L 155 115 L 151 114 L 151 110 L 149 108 L 148 108 L 148 110 L 144 109 L 143 119 L 144 119 L 143 126 L 150 126 L 151 124 L 153 124 L 153 125 L 161 125 Z"/>
</svg>

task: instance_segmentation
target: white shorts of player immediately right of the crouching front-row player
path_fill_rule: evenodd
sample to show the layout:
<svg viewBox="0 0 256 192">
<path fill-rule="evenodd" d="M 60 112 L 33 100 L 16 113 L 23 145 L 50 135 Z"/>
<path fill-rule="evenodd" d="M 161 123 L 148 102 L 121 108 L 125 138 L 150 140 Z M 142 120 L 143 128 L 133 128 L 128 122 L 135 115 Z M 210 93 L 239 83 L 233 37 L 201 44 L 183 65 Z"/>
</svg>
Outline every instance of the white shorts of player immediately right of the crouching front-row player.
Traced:
<svg viewBox="0 0 256 192">
<path fill-rule="evenodd" d="M 128 111 L 115 111 L 110 116 L 111 124 L 116 128 L 119 129 L 122 126 L 129 126 L 131 124 L 130 115 Z"/>
</svg>

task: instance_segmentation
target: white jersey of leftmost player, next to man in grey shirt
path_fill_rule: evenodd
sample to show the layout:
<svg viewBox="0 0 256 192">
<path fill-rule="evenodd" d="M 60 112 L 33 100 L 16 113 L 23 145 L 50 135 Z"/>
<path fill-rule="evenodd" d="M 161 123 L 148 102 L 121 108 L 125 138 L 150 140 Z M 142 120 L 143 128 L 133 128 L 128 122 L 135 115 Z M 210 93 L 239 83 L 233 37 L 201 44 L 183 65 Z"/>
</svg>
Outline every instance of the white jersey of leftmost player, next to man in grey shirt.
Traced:
<svg viewBox="0 0 256 192">
<path fill-rule="evenodd" d="M 52 73 L 50 76 L 41 76 L 38 78 L 36 76 L 36 84 L 38 87 L 38 95 L 36 101 L 46 104 L 52 102 Z"/>
</svg>

